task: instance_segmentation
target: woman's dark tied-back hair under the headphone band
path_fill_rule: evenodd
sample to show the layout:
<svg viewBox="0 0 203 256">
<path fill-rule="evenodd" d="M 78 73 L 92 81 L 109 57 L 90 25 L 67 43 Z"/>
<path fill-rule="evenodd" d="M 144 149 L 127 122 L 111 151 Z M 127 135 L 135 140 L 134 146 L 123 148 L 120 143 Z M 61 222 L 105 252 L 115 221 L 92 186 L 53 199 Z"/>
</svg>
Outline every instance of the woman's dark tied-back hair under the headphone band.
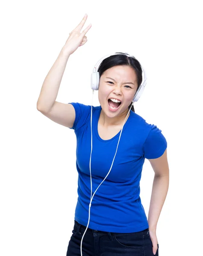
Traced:
<svg viewBox="0 0 203 256">
<path fill-rule="evenodd" d="M 140 86 L 140 84 L 142 84 L 142 67 L 139 63 L 139 61 L 134 57 L 134 56 L 130 56 L 128 53 L 123 53 L 123 52 L 116 52 L 116 53 L 120 53 L 120 54 L 116 54 L 116 55 L 111 55 L 107 58 L 105 58 L 101 64 L 99 65 L 99 78 L 102 76 L 102 74 L 104 73 L 104 71 L 106 71 L 107 69 L 109 69 L 110 67 L 114 67 L 114 66 L 118 66 L 118 65 L 127 65 L 132 67 L 135 70 L 136 73 L 136 77 L 137 77 L 137 90 Z M 127 55 L 129 56 L 127 56 Z M 136 92 L 137 92 L 136 90 Z M 131 102 L 131 104 L 128 106 L 128 109 L 131 108 L 133 102 Z M 134 107 L 132 106 L 131 110 L 133 112 L 135 112 Z"/>
</svg>

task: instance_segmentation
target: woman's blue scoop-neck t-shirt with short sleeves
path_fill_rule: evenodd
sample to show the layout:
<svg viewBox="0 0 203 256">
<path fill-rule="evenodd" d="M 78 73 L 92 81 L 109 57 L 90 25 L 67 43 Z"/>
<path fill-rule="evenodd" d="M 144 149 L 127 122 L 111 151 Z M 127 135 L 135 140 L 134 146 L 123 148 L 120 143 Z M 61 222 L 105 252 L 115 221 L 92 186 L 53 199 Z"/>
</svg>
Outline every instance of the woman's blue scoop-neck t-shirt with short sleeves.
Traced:
<svg viewBox="0 0 203 256">
<path fill-rule="evenodd" d="M 77 138 L 78 202 L 75 220 L 87 227 L 91 196 L 91 106 L 81 103 L 70 104 L 75 108 L 75 122 L 71 129 L 75 130 Z M 101 110 L 101 106 L 93 106 L 92 195 L 110 170 L 120 135 L 119 131 L 110 140 L 102 140 L 99 137 L 97 127 Z M 133 233 L 149 227 L 139 196 L 142 166 L 145 158 L 160 157 L 166 148 L 167 142 L 161 130 L 130 111 L 122 130 L 112 169 L 93 197 L 89 228 L 106 232 Z"/>
</svg>

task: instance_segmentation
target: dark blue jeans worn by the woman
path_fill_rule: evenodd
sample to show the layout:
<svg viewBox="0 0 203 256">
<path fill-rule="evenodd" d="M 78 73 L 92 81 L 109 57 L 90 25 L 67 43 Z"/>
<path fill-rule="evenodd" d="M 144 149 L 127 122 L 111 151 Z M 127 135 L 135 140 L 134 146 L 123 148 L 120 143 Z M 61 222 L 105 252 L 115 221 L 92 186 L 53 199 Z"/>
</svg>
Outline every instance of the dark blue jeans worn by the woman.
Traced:
<svg viewBox="0 0 203 256">
<path fill-rule="evenodd" d="M 81 256 L 81 239 L 86 227 L 75 221 L 66 256 Z M 159 244 L 157 245 L 159 252 Z M 134 233 L 113 233 L 87 229 L 82 256 L 154 256 L 149 229 Z"/>
</svg>

